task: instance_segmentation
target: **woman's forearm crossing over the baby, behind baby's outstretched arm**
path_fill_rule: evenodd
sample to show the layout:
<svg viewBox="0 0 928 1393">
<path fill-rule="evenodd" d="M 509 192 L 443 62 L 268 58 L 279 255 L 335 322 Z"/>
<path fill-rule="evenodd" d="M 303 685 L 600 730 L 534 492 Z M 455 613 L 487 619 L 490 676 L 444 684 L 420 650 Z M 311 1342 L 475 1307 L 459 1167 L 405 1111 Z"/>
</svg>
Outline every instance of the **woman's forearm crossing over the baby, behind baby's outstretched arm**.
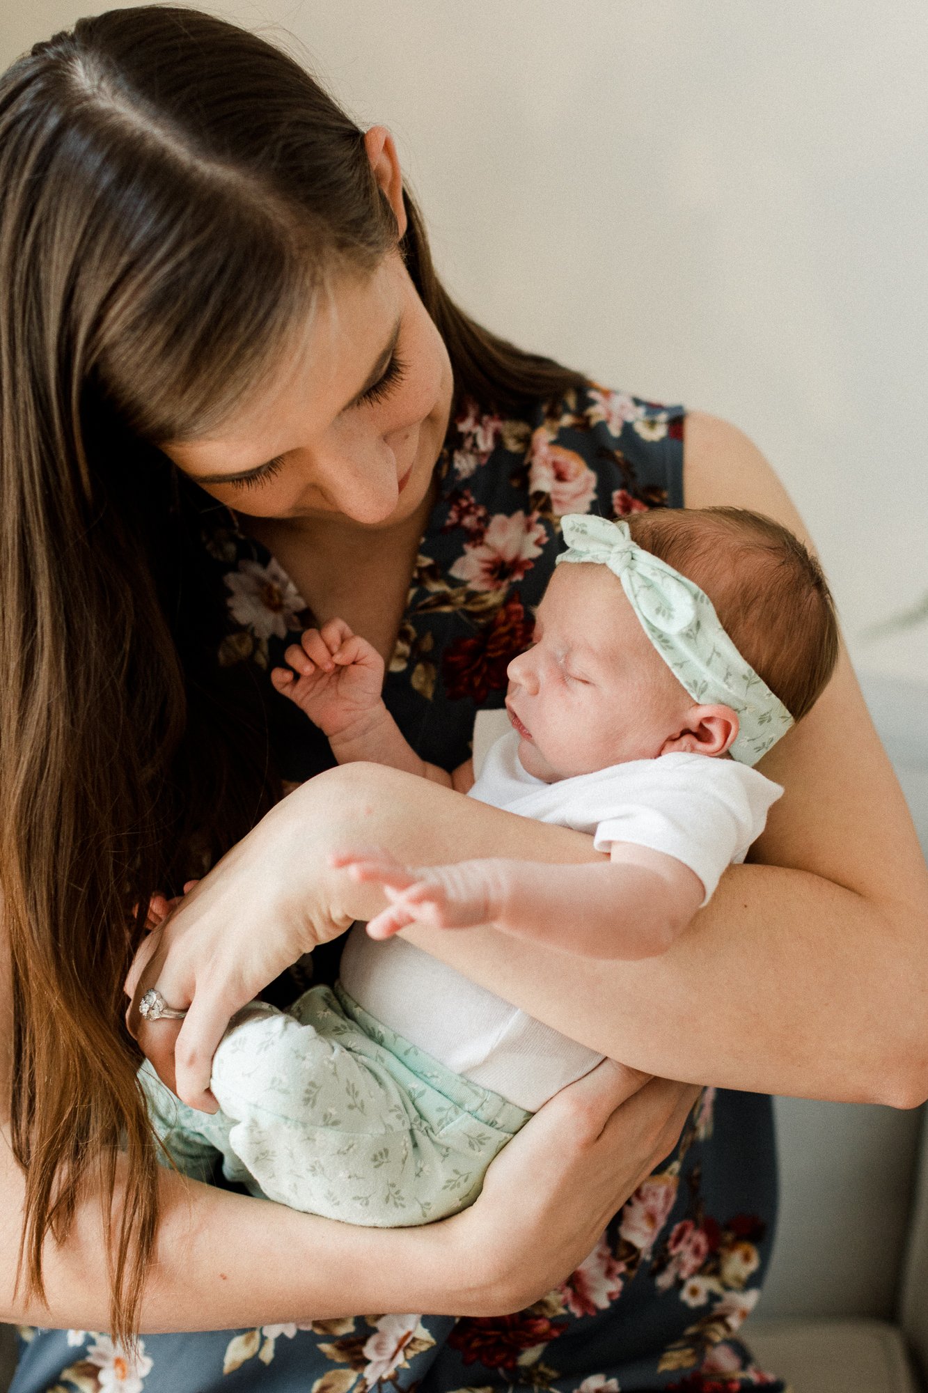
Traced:
<svg viewBox="0 0 928 1393">
<path fill-rule="evenodd" d="M 351 840 L 399 859 L 599 859 L 589 837 L 412 784 L 393 770 L 355 766 L 354 777 L 347 801 L 361 819 Z M 889 780 L 881 790 L 886 816 L 897 815 Z M 840 833 L 839 814 L 835 822 Z M 804 854 L 786 850 L 797 861 Z M 411 926 L 404 937 L 647 1073 L 914 1106 L 928 1095 L 928 935 L 915 878 L 911 871 L 893 883 L 883 871 L 864 893 L 801 868 L 732 866 L 673 947 L 638 963 L 571 958 L 489 928 Z M 382 905 L 371 886 L 353 886 L 343 901 L 357 918 Z"/>
</svg>

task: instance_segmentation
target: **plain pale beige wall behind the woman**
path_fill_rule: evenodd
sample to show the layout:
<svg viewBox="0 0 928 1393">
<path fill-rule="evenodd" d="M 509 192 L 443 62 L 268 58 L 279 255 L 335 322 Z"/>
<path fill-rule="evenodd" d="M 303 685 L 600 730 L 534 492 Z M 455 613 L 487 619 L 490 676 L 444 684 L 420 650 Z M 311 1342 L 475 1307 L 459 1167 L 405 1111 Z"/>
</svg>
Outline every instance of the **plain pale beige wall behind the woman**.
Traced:
<svg viewBox="0 0 928 1393">
<path fill-rule="evenodd" d="M 928 680 L 924 0 L 229 0 L 394 130 L 495 329 L 729 417 L 818 538 L 858 666 Z M 8 60 L 93 7 L 7 0 Z"/>
</svg>

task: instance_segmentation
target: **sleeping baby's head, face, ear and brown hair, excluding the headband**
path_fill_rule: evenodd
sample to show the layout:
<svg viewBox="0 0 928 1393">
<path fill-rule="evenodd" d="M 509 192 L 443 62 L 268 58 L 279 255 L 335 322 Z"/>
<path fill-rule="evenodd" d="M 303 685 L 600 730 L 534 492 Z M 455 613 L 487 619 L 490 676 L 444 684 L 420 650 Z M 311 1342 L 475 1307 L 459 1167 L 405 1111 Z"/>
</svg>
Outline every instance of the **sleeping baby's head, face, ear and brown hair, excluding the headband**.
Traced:
<svg viewBox="0 0 928 1393">
<path fill-rule="evenodd" d="M 609 534 L 601 520 L 578 521 Z M 778 522 L 741 508 L 659 508 L 627 522 L 637 546 L 708 596 L 741 657 L 786 712 L 794 720 L 804 716 L 837 657 L 832 598 L 805 546 Z M 673 644 L 662 656 L 663 644 L 659 652 L 606 564 L 557 567 L 538 606 L 534 638 L 509 666 L 506 705 L 523 737 L 520 761 L 538 779 L 552 783 L 673 752 L 719 756 L 738 737 L 738 702 L 687 691 L 670 667 Z M 709 664 L 725 671 L 711 648 Z M 687 685 L 697 684 L 687 678 Z M 782 733 L 786 712 L 779 719 Z"/>
</svg>

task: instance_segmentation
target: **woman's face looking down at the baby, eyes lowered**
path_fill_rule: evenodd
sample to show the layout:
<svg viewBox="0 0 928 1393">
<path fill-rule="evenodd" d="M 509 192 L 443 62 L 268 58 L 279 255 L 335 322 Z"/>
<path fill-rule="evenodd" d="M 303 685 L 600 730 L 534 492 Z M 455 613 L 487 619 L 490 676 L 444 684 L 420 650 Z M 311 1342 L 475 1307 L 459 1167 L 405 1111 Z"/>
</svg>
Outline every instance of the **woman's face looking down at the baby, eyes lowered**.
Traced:
<svg viewBox="0 0 928 1393">
<path fill-rule="evenodd" d="M 399 252 L 333 280 L 309 336 L 209 437 L 164 453 L 261 518 L 389 528 L 428 492 L 447 429 L 451 365 Z"/>
</svg>

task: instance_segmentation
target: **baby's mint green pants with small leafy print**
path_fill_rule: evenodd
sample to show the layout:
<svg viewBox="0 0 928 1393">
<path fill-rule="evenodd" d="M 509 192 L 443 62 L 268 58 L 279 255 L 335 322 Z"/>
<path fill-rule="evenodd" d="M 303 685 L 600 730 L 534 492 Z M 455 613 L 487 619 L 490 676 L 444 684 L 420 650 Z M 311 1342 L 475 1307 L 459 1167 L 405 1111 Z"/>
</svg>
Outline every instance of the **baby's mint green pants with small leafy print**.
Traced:
<svg viewBox="0 0 928 1393">
<path fill-rule="evenodd" d="M 255 1195 L 376 1227 L 472 1204 L 531 1116 L 380 1025 L 339 983 L 288 1011 L 255 1002 L 240 1013 L 213 1059 L 217 1113 L 180 1102 L 148 1064 L 139 1078 L 178 1170 L 209 1180 L 222 1159 Z"/>
</svg>

